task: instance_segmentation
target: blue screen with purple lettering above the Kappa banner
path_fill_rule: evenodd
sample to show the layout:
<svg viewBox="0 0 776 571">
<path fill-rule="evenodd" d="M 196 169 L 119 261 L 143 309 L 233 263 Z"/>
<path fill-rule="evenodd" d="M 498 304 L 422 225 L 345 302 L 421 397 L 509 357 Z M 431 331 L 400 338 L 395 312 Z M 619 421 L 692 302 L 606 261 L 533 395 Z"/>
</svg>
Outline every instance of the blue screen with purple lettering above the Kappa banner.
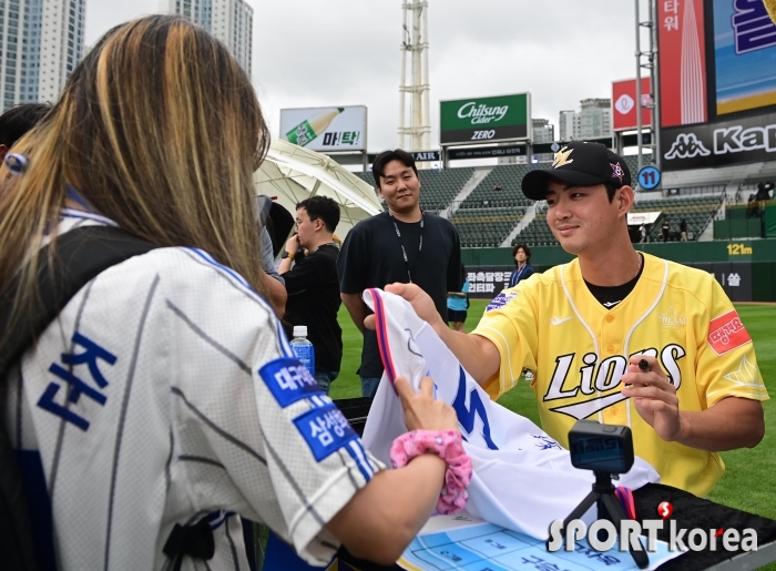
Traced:
<svg viewBox="0 0 776 571">
<path fill-rule="evenodd" d="M 711 0 L 717 115 L 776 103 L 776 26 L 763 0 Z"/>
</svg>

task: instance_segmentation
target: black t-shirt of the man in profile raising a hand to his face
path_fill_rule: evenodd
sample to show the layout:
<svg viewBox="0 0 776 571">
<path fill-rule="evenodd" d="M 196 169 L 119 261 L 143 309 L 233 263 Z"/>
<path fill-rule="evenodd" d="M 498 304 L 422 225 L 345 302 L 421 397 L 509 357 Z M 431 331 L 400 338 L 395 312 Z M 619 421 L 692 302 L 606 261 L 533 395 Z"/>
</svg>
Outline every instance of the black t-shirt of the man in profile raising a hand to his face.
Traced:
<svg viewBox="0 0 776 571">
<path fill-rule="evenodd" d="M 339 370 L 343 360 L 343 329 L 337 322 L 339 282 L 337 255 L 339 248 L 324 244 L 308 253 L 283 274 L 288 300 L 283 326 L 290 339 L 294 325 L 307 326 L 307 338 L 315 348 L 315 368 Z"/>
</svg>

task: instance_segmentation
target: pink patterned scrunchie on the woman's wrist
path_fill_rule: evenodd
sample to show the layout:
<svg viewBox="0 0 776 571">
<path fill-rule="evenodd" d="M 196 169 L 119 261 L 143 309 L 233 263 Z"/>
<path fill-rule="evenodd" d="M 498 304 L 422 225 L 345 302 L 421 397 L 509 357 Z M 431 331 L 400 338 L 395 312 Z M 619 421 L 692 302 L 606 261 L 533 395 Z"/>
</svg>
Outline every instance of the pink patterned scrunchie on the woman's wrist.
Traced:
<svg viewBox="0 0 776 571">
<path fill-rule="evenodd" d="M 471 481 L 471 458 L 463 450 L 458 430 L 412 430 L 404 434 L 390 447 L 390 461 L 394 468 L 402 468 L 412 458 L 428 452 L 436 453 L 447 462 L 437 512 L 443 516 L 458 513 L 469 499 L 466 488 Z"/>
</svg>

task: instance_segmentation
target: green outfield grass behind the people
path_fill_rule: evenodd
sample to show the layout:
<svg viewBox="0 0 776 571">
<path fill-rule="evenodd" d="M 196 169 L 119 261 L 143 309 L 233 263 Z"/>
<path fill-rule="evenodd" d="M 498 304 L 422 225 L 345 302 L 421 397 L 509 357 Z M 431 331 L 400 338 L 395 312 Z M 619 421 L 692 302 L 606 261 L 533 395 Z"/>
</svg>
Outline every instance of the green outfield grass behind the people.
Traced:
<svg viewBox="0 0 776 571">
<path fill-rule="evenodd" d="M 474 328 L 486 304 L 484 300 L 471 302 L 467 330 Z M 754 449 L 722 453 L 727 471 L 709 493 L 709 499 L 776 519 L 776 306 L 741 305 L 737 309 L 754 339 L 757 361 L 773 400 L 763 404 L 766 425 L 763 441 Z M 345 308 L 340 310 L 339 323 L 343 326 L 345 354 L 341 373 L 331 388 L 331 397 L 360 397 L 361 386 L 356 370 L 360 360 L 361 335 Z M 539 424 L 537 399 L 528 383 L 519 383 L 499 402 Z M 768 565 L 767 569 L 776 570 L 776 565 Z"/>
</svg>

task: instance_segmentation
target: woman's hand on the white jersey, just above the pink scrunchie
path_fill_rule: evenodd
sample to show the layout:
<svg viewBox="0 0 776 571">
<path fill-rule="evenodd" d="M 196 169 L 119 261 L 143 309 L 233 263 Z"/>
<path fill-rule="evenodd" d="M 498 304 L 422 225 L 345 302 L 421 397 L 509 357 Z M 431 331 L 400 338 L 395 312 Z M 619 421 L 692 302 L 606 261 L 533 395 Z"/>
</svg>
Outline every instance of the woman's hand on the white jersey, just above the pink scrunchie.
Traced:
<svg viewBox="0 0 776 571">
<path fill-rule="evenodd" d="M 443 400 L 435 400 L 431 377 L 420 380 L 417 394 L 406 377 L 396 377 L 394 388 L 401 400 L 408 430 L 459 430 L 456 410 Z"/>
</svg>

